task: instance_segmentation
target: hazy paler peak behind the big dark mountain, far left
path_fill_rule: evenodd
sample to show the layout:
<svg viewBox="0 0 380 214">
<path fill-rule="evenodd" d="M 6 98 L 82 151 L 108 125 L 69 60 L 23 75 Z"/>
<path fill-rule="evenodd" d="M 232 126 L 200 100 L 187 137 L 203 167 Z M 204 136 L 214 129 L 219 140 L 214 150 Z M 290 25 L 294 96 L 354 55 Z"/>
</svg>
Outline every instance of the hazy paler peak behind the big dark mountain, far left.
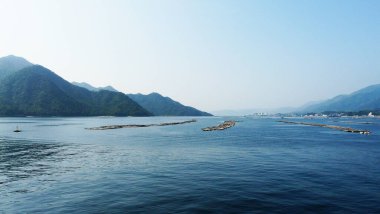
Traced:
<svg viewBox="0 0 380 214">
<path fill-rule="evenodd" d="M 0 81 L 12 72 L 21 70 L 33 64 L 22 57 L 9 55 L 0 58 Z"/>
</svg>

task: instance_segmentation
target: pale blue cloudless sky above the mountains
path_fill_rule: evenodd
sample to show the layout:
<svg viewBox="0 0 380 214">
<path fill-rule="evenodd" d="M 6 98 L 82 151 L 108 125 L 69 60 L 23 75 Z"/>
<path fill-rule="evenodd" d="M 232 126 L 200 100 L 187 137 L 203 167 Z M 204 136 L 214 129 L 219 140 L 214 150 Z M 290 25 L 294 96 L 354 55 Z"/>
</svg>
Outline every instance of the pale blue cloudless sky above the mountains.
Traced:
<svg viewBox="0 0 380 214">
<path fill-rule="evenodd" d="M 0 0 L 0 57 L 205 111 L 380 83 L 378 0 Z"/>
</svg>

